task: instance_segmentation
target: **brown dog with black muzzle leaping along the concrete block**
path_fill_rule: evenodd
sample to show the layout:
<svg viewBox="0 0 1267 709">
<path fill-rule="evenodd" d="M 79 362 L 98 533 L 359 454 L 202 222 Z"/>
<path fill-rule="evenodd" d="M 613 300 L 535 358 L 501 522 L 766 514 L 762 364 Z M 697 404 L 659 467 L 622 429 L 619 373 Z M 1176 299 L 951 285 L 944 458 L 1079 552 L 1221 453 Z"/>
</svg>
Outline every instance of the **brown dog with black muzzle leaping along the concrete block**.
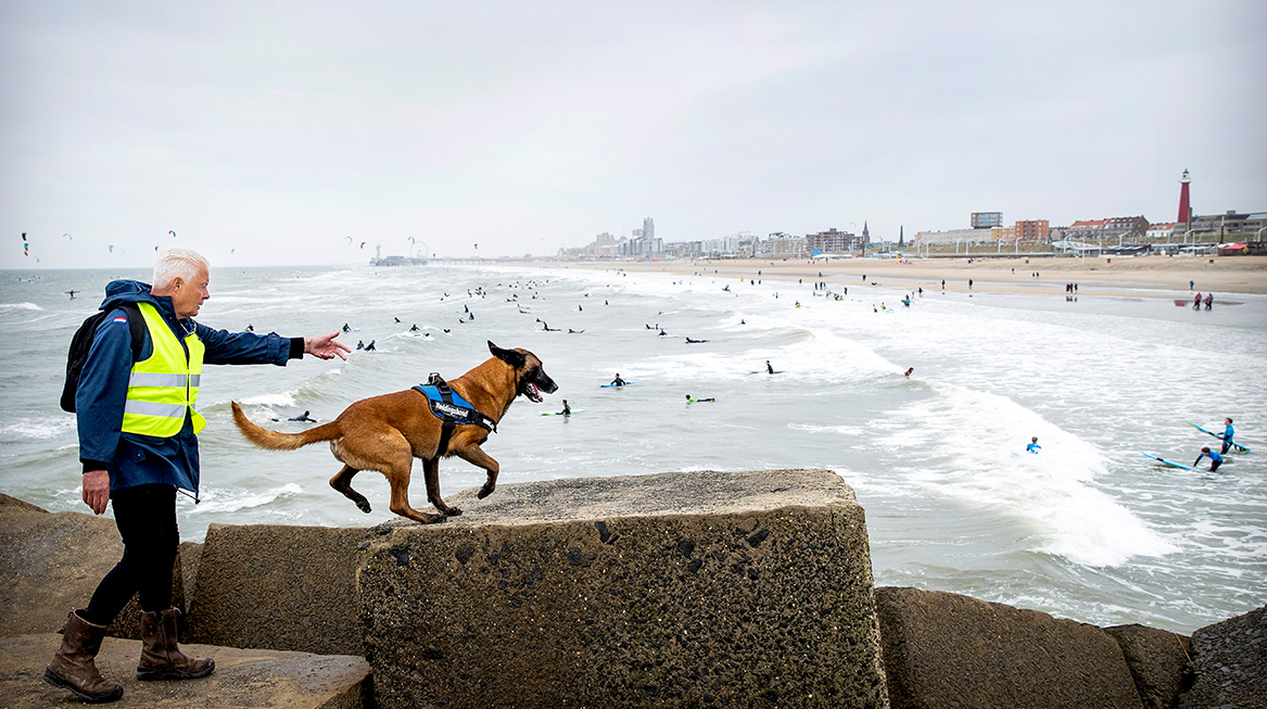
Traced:
<svg viewBox="0 0 1267 709">
<path fill-rule="evenodd" d="M 541 360 L 527 349 L 502 349 L 488 343 L 493 358 L 449 382 L 452 390 L 492 419 L 502 420 L 516 396 L 541 401 L 541 391 L 554 394 L 559 386 L 541 368 Z M 407 389 L 352 403 L 337 419 L 303 433 L 279 433 L 251 423 L 233 403 L 233 420 L 247 441 L 261 448 L 294 451 L 318 441 L 329 441 L 329 449 L 343 470 L 329 479 L 331 487 L 370 511 L 370 501 L 352 490 L 352 477 L 362 470 L 376 470 L 392 484 L 392 511 L 423 524 L 443 522 L 462 510 L 446 505 L 440 496 L 440 458 L 457 456 L 488 471 L 480 487 L 483 500 L 497 489 L 498 465 L 480 444 L 488 429 L 478 424 L 456 424 L 445 449 L 440 449 L 443 424 L 431 413 L 427 395 Z M 427 514 L 409 506 L 409 474 L 413 458 L 422 458 L 427 480 L 427 499 L 441 514 Z"/>
</svg>

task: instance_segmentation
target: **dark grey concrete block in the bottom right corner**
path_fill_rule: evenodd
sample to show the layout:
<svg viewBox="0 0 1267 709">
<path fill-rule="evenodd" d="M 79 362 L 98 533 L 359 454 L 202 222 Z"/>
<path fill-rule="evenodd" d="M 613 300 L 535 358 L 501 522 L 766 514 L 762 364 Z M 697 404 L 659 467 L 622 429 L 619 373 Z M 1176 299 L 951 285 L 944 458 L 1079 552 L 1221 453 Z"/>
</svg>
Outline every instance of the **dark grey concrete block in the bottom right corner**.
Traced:
<svg viewBox="0 0 1267 709">
<path fill-rule="evenodd" d="M 1180 709 L 1267 706 L 1267 605 L 1192 633 L 1190 667 Z"/>
</svg>

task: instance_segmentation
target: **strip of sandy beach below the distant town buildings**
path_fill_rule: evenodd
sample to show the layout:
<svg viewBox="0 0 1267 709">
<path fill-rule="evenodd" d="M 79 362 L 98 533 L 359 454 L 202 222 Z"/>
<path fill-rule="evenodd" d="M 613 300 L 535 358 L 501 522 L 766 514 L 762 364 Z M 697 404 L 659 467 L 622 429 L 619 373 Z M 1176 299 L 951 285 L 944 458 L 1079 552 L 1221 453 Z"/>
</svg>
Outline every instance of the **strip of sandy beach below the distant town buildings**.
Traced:
<svg viewBox="0 0 1267 709">
<path fill-rule="evenodd" d="M 583 261 L 556 262 L 551 268 L 641 271 L 677 275 L 716 275 L 739 280 L 821 280 L 854 286 L 867 282 L 915 290 L 1002 294 L 1066 292 L 1077 284 L 1078 295 L 1182 298 L 1191 291 L 1267 294 L 1267 256 L 1136 258 L 854 258 L 831 261 L 772 261 L 768 258 L 712 261 Z M 820 277 L 821 273 L 821 277 Z"/>
</svg>

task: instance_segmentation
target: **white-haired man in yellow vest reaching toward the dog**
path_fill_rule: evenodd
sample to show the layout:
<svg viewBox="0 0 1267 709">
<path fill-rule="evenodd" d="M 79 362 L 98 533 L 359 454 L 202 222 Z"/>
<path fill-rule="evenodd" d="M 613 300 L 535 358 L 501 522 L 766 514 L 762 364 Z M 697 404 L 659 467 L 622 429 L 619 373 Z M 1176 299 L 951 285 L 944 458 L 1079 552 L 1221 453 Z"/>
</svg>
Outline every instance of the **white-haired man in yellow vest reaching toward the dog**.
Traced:
<svg viewBox="0 0 1267 709">
<path fill-rule="evenodd" d="M 139 594 L 141 662 L 137 679 L 205 677 L 210 658 L 185 656 L 176 646 L 180 612 L 171 606 L 171 577 L 180 534 L 176 490 L 196 500 L 198 432 L 207 425 L 194 408 L 203 363 L 284 366 L 313 354 L 343 357 L 338 334 L 288 339 L 276 334 L 229 333 L 194 322 L 210 298 L 207 260 L 188 248 L 158 256 L 155 285 L 118 280 L 106 289 L 98 327 L 75 396 L 84 463 L 84 503 L 95 514 L 114 508 L 123 558 L 101 580 L 86 608 L 70 614 L 62 646 L 44 680 L 89 701 L 114 701 L 123 687 L 101 677 L 94 658 L 105 627 Z M 120 308 L 133 304 L 134 309 Z M 131 314 L 129 314 L 129 310 Z M 144 320 L 144 342 L 133 361 L 128 319 Z"/>
</svg>

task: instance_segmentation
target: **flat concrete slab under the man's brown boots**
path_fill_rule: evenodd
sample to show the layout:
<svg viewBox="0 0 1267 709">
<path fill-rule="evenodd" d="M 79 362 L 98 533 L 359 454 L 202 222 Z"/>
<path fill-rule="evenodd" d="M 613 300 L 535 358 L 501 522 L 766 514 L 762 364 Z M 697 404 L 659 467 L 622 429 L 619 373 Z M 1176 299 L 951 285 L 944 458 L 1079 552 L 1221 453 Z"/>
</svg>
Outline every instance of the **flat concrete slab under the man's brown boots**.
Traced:
<svg viewBox="0 0 1267 709">
<path fill-rule="evenodd" d="M 0 638 L 0 706 L 34 709 L 84 706 L 71 693 L 43 681 L 44 667 L 61 636 Z M 141 642 L 106 638 L 96 666 L 123 685 L 118 706 L 188 709 L 198 706 L 285 706 L 289 709 L 360 709 L 372 706 L 370 666 L 361 657 L 233 649 L 181 644 L 195 657 L 215 660 L 209 677 L 186 681 L 137 681 Z"/>
</svg>

